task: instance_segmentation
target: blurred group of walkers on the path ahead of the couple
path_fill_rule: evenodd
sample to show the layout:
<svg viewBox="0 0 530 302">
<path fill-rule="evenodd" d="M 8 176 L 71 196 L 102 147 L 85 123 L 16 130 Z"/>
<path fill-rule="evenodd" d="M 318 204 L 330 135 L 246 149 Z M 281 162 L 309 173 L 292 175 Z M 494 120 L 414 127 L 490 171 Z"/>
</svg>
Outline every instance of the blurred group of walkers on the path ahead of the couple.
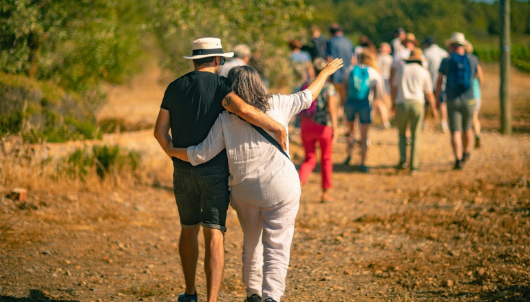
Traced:
<svg viewBox="0 0 530 302">
<path fill-rule="evenodd" d="M 432 113 L 436 121 L 439 112 L 441 130 L 449 130 L 452 134 L 454 169 L 462 169 L 463 163 L 469 160 L 473 142 L 476 148 L 480 147 L 478 111 L 483 77 L 478 58 L 472 54 L 472 45 L 464 34 L 453 33 L 446 40 L 447 51 L 438 46 L 432 37 L 425 38 L 423 49 L 419 48 L 416 36 L 405 32 L 403 28 L 396 30 L 390 43 L 381 43 L 379 49 L 366 36 L 361 36 L 359 45 L 354 47 L 338 24 L 330 26 L 331 38 L 324 43 L 319 30 L 316 27 L 311 27 L 311 30 L 313 34 L 310 43 L 305 47 L 307 54 L 304 56 L 304 47 L 299 47 L 301 51 L 297 51 L 298 58 L 311 56 L 314 62 L 320 58 L 343 58 L 345 62 L 343 70 L 330 78 L 337 93 L 331 93 L 328 102 L 339 104 L 339 107 L 335 112 L 327 112 L 330 119 L 345 119 L 348 124 L 345 164 L 349 165 L 352 160 L 354 137 L 360 132 L 359 170 L 369 172 L 370 168 L 366 165 L 370 145 L 368 132 L 374 115 L 379 116 L 383 128 L 390 128 L 390 121 L 394 121 L 399 132 L 400 159 L 396 167 L 410 169 L 412 174 L 419 170 L 421 131 L 429 113 Z M 307 82 L 310 78 L 304 80 Z M 336 97 L 340 100 L 335 100 Z M 321 115 L 324 113 L 319 116 Z M 301 119 L 304 122 L 308 115 L 301 116 Z M 315 122 L 314 117 L 310 119 Z M 305 123 L 308 124 L 307 121 Z M 301 139 L 306 150 L 306 160 L 302 167 L 315 165 L 314 143 L 306 144 L 306 137 L 315 138 L 315 132 L 323 134 L 319 137 L 320 140 L 326 139 L 324 147 L 320 143 L 323 150 L 321 165 L 331 165 L 332 159 L 328 156 L 331 148 L 328 146 L 332 145 L 330 137 L 337 137 L 337 124 L 325 126 L 332 129 L 301 129 Z M 327 135 L 326 131 L 335 135 Z M 410 146 L 408 160 L 407 146 Z M 323 168 L 322 174 L 323 189 L 326 191 L 330 187 L 330 183 L 325 181 L 330 179 L 330 170 Z M 301 181 L 304 182 L 305 178 L 301 177 Z"/>
</svg>

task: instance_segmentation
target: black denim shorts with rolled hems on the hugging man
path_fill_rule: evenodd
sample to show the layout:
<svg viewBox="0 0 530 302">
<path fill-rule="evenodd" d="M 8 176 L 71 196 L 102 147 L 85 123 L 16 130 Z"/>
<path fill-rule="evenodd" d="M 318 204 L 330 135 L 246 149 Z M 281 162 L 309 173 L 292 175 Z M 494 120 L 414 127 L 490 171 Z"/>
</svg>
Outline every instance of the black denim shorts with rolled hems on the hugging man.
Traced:
<svg viewBox="0 0 530 302">
<path fill-rule="evenodd" d="M 226 231 L 230 204 L 229 167 L 174 168 L 173 191 L 184 228 L 209 227 Z"/>
</svg>

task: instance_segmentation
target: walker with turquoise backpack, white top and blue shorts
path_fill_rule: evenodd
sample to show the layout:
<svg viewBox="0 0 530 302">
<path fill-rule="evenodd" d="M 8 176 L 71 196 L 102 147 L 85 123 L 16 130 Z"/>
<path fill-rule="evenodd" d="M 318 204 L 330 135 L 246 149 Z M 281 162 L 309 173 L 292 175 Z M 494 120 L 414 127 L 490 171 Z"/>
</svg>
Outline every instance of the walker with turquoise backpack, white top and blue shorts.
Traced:
<svg viewBox="0 0 530 302">
<path fill-rule="evenodd" d="M 382 102 L 385 97 L 385 82 L 377 69 L 377 58 L 371 51 L 363 51 L 359 54 L 359 62 L 350 69 L 346 82 L 344 83 L 343 99 L 344 112 L 348 126 L 350 127 L 350 137 L 348 139 L 348 157 L 344 162 L 350 165 L 350 160 L 354 146 L 355 118 L 359 117 L 361 124 L 361 172 L 369 172 L 366 165 L 366 153 L 368 152 L 368 129 L 372 124 L 372 104 L 374 101 Z"/>
</svg>

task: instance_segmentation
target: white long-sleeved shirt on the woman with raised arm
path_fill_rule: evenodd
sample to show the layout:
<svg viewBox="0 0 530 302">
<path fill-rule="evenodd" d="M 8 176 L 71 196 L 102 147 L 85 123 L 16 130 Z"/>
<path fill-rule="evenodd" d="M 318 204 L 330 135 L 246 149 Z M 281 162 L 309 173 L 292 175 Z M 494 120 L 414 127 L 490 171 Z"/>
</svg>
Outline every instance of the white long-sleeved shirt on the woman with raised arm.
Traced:
<svg viewBox="0 0 530 302">
<path fill-rule="evenodd" d="M 272 108 L 266 115 L 287 129 L 290 118 L 309 108 L 312 100 L 308 89 L 292 95 L 273 95 L 268 100 Z M 275 137 L 274 133 L 269 134 Z M 257 207 L 272 207 L 300 185 L 293 162 L 251 124 L 228 111 L 219 115 L 202 143 L 188 148 L 188 159 L 192 165 L 199 165 L 223 149 L 229 159 L 231 196 L 237 200 Z"/>
</svg>

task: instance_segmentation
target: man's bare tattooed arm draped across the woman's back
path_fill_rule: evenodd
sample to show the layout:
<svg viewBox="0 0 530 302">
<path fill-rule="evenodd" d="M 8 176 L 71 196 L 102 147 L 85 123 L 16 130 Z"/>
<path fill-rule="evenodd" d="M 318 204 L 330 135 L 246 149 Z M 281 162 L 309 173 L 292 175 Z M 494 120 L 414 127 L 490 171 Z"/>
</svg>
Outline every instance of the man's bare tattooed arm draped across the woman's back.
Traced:
<svg viewBox="0 0 530 302">
<path fill-rule="evenodd" d="M 251 124 L 275 132 L 279 144 L 282 145 L 284 150 L 287 150 L 287 130 L 282 124 L 279 124 L 254 106 L 246 104 L 244 100 L 234 92 L 231 92 L 224 97 L 223 107 L 226 111 L 238 115 Z"/>
</svg>

